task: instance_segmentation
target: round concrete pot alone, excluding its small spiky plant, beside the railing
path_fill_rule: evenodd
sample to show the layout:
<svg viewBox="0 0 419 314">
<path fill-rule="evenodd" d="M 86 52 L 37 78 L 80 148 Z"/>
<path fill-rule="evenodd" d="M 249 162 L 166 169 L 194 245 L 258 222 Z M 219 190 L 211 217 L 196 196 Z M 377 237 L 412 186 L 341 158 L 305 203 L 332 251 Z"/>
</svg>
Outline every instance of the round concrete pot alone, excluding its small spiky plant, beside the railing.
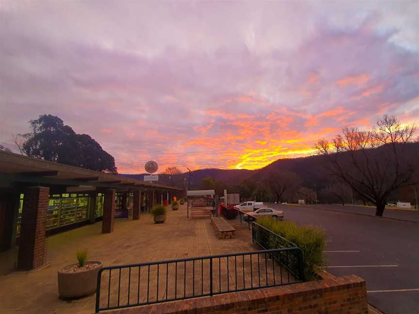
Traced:
<svg viewBox="0 0 419 314">
<path fill-rule="evenodd" d="M 102 263 L 89 261 L 86 264 L 99 263 L 96 267 L 78 272 L 58 271 L 58 291 L 60 298 L 78 298 L 90 296 L 96 292 L 97 273 L 102 268 Z M 78 265 L 78 264 L 72 264 Z"/>
</svg>

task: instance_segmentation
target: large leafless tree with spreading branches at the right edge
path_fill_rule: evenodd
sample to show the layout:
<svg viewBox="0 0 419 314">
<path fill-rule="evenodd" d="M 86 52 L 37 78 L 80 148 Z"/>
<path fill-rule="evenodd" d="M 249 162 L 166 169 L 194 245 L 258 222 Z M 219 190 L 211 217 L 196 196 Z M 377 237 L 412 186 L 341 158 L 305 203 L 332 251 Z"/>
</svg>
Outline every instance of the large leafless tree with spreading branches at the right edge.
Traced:
<svg viewBox="0 0 419 314">
<path fill-rule="evenodd" d="M 319 140 L 316 148 L 327 157 L 326 168 L 383 216 L 388 195 L 412 183 L 418 165 L 416 126 L 402 126 L 396 117 L 384 115 L 371 130 L 344 128 L 331 142 Z"/>
</svg>

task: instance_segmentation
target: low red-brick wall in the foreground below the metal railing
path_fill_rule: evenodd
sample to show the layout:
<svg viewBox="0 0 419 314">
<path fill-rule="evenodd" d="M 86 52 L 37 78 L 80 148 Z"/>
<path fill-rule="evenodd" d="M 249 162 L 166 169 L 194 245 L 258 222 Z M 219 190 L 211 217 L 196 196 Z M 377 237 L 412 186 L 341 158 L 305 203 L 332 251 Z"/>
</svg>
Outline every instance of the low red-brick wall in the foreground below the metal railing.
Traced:
<svg viewBox="0 0 419 314">
<path fill-rule="evenodd" d="M 194 298 L 116 311 L 120 314 L 368 314 L 365 281 L 355 275 Z"/>
</svg>

